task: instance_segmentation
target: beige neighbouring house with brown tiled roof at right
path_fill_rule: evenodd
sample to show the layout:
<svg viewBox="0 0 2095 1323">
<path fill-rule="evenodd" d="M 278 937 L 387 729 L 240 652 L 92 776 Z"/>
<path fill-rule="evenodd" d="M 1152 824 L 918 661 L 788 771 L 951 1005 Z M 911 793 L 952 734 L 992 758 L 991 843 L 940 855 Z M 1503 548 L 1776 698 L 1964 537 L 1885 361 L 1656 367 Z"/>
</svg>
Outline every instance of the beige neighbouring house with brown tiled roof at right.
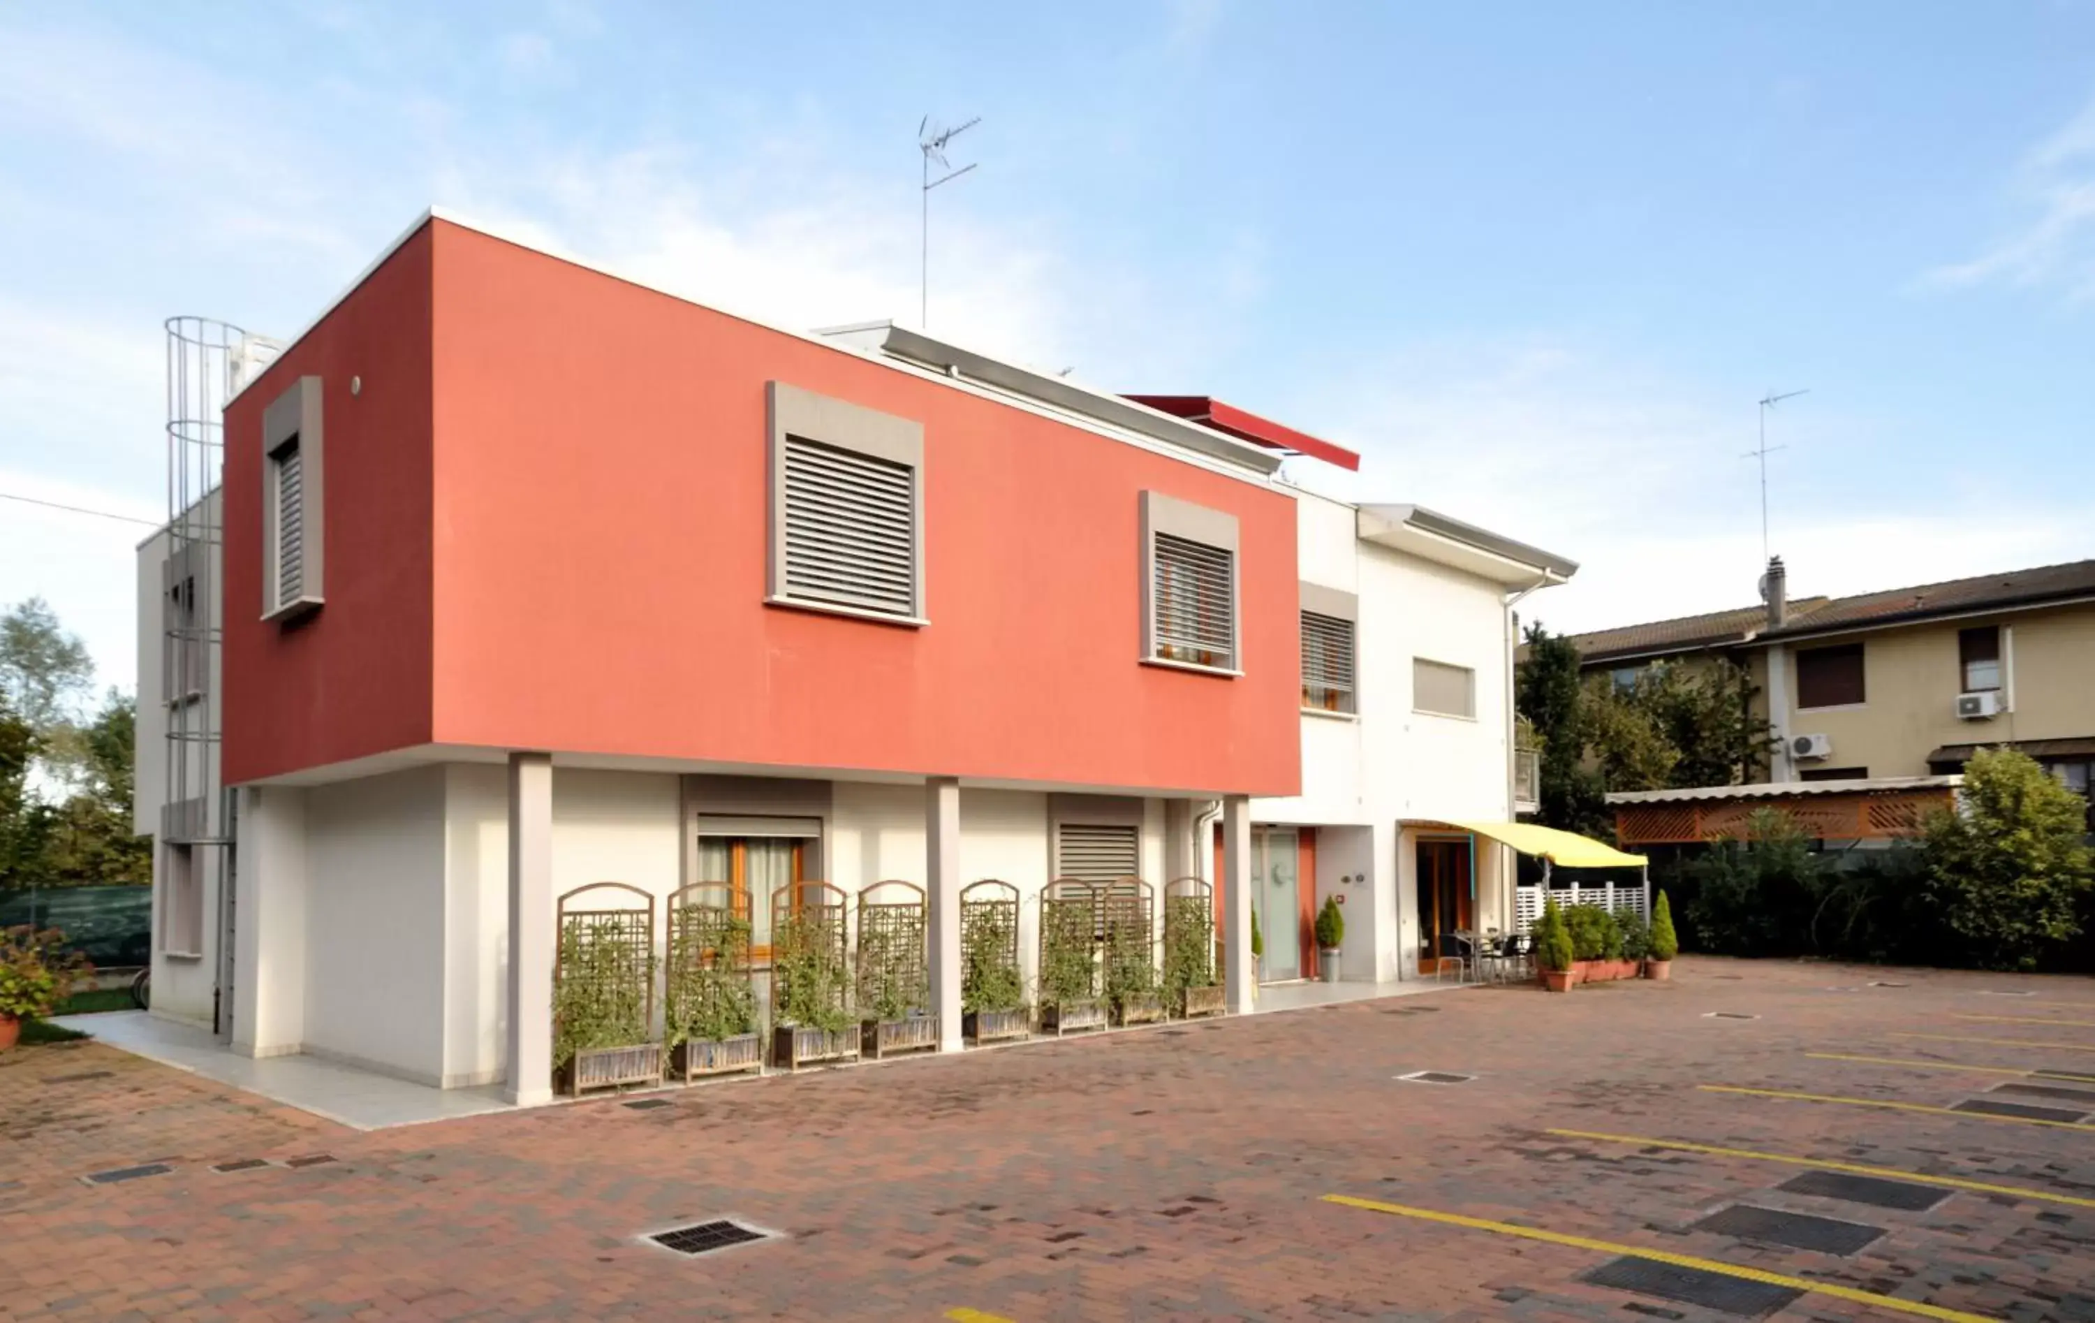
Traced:
<svg viewBox="0 0 2095 1323">
<path fill-rule="evenodd" d="M 1994 744 L 2082 795 L 2095 784 L 2095 560 L 1793 600 L 1777 556 L 1762 595 L 1571 642 L 1617 684 L 1661 663 L 1745 665 L 1781 736 L 1777 784 L 1944 776 Z"/>
</svg>

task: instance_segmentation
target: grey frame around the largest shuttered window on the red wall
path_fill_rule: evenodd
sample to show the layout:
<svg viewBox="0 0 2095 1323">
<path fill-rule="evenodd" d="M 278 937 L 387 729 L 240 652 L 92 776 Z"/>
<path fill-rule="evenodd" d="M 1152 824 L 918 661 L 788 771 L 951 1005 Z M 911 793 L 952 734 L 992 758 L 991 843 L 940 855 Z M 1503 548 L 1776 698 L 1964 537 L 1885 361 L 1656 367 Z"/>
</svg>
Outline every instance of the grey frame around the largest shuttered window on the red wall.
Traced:
<svg viewBox="0 0 2095 1323">
<path fill-rule="evenodd" d="M 765 604 L 813 610 L 882 625 L 922 627 L 930 623 L 924 593 L 924 424 L 863 405 L 838 400 L 790 382 L 765 384 L 769 428 L 769 551 L 765 556 Z M 855 606 L 825 598 L 794 595 L 786 577 L 786 451 L 788 438 L 815 442 L 851 455 L 903 465 L 911 474 L 909 614 Z"/>
</svg>

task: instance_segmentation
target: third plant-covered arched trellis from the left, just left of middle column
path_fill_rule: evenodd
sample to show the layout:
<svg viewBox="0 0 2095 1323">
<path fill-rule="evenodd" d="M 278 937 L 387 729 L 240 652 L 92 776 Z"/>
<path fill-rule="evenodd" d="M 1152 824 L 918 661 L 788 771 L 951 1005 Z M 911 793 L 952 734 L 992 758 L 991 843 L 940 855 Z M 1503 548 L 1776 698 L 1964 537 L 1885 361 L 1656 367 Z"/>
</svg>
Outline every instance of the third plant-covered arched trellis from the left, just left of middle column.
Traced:
<svg viewBox="0 0 2095 1323">
<path fill-rule="evenodd" d="M 859 1055 L 851 1015 L 848 904 L 830 883 L 771 893 L 771 1065 L 798 1069 Z"/>
</svg>

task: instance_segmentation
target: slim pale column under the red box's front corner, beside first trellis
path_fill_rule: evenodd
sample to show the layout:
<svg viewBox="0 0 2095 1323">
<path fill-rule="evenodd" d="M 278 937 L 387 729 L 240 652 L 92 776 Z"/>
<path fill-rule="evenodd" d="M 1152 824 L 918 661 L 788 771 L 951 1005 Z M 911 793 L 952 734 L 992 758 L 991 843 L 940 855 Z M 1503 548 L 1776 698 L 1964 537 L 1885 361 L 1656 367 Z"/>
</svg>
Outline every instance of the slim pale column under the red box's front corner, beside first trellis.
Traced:
<svg viewBox="0 0 2095 1323">
<path fill-rule="evenodd" d="M 509 1057 L 503 1097 L 553 1101 L 553 755 L 509 755 Z"/>
</svg>

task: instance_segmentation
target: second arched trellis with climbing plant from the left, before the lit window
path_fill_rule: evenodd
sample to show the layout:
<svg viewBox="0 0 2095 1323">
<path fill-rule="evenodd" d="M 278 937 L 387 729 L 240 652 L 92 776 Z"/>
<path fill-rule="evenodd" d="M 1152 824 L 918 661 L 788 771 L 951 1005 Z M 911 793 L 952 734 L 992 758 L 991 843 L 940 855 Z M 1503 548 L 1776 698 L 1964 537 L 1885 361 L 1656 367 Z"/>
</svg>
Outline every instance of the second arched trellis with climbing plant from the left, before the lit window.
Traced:
<svg viewBox="0 0 2095 1323">
<path fill-rule="evenodd" d="M 731 883 L 691 883 L 668 897 L 662 1042 L 685 1080 L 765 1067 L 748 897 Z"/>
</svg>

